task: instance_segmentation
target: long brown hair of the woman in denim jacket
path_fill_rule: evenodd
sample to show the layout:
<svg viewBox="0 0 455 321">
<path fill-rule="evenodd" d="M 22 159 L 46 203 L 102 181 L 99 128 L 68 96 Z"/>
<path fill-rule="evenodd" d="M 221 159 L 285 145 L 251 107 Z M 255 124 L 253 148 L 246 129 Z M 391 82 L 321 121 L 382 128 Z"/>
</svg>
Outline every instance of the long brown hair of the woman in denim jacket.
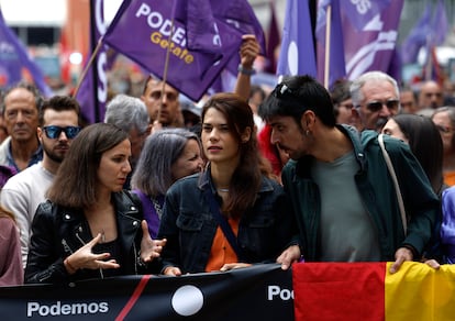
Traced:
<svg viewBox="0 0 455 321">
<path fill-rule="evenodd" d="M 232 217 L 240 217 L 252 207 L 260 188 L 262 175 L 270 175 L 271 166 L 258 150 L 256 128 L 253 112 L 248 103 L 235 93 L 217 93 L 206 102 L 202 109 L 202 123 L 210 108 L 221 112 L 228 121 L 228 125 L 238 142 L 240 163 L 231 178 L 230 192 L 225 210 Z M 242 134 L 249 128 L 251 139 L 242 142 Z"/>
</svg>

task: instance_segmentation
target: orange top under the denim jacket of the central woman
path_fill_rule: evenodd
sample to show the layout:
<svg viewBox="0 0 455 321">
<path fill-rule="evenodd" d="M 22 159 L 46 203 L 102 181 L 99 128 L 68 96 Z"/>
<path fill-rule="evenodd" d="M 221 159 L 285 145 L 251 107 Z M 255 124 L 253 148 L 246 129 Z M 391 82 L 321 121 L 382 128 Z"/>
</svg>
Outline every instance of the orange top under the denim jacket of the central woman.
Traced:
<svg viewBox="0 0 455 321">
<path fill-rule="evenodd" d="M 238 233 L 240 219 L 229 219 L 232 232 L 235 236 Z M 226 263 L 237 263 L 238 258 L 235 251 L 232 248 L 226 236 L 224 236 L 223 230 L 218 226 L 215 235 L 213 237 L 212 248 L 210 250 L 209 261 L 206 266 L 206 272 L 220 270 L 220 268 Z"/>
</svg>

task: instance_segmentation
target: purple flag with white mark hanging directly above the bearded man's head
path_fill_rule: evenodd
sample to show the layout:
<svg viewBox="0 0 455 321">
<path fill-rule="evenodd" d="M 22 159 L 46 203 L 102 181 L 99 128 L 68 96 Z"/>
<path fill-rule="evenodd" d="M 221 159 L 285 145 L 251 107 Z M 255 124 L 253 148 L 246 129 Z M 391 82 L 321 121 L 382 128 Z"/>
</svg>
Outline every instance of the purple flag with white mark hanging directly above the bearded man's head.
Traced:
<svg viewBox="0 0 455 321">
<path fill-rule="evenodd" d="M 308 0 L 288 0 L 277 75 L 317 76 Z"/>
</svg>

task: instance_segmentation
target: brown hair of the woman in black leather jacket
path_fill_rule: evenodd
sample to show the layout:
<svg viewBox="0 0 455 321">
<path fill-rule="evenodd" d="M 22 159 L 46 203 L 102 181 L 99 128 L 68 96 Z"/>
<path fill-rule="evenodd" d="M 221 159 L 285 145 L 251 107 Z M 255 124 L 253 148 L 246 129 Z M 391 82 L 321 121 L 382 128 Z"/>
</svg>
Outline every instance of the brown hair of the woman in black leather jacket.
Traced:
<svg viewBox="0 0 455 321">
<path fill-rule="evenodd" d="M 126 132 L 112 124 L 96 123 L 85 128 L 73 141 L 47 190 L 47 198 L 65 207 L 92 206 L 97 201 L 97 171 L 102 154 L 127 137 Z"/>
</svg>

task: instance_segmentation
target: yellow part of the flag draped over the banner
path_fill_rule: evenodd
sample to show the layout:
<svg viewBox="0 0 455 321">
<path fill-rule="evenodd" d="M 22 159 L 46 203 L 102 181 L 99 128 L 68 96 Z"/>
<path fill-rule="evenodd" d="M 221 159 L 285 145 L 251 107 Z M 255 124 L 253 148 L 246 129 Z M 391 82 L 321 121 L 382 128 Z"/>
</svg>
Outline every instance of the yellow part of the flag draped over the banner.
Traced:
<svg viewBox="0 0 455 321">
<path fill-rule="evenodd" d="M 423 263 L 406 262 L 396 274 L 387 263 L 386 320 L 455 320 L 455 265 L 435 270 Z"/>
</svg>

